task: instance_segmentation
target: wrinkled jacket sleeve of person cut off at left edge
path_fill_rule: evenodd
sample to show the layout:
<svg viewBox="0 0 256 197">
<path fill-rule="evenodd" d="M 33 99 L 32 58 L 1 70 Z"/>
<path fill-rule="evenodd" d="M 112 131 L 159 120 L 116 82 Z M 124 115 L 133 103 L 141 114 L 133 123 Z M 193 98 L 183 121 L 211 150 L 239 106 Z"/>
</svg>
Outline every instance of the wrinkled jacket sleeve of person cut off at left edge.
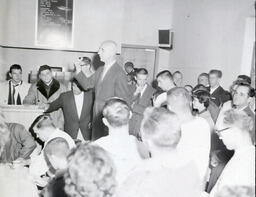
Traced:
<svg viewBox="0 0 256 197">
<path fill-rule="evenodd" d="M 18 143 L 22 145 L 22 148 L 19 152 L 19 157 L 28 159 L 30 154 L 36 148 L 36 143 L 31 134 L 25 129 L 23 125 L 17 124 L 15 131 L 16 139 L 18 140 Z"/>
</svg>

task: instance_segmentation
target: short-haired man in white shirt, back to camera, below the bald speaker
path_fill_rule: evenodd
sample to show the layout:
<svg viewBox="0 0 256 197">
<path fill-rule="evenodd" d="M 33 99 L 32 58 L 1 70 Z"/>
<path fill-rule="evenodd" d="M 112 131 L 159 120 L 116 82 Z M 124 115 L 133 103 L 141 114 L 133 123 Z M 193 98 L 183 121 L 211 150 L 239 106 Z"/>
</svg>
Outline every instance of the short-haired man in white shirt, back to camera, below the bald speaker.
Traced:
<svg viewBox="0 0 256 197">
<path fill-rule="evenodd" d="M 109 99 L 103 108 L 103 123 L 108 127 L 109 135 L 94 142 L 109 152 L 114 160 L 118 183 L 122 183 L 142 160 L 136 137 L 129 135 L 130 115 L 130 108 L 124 100 Z"/>
</svg>

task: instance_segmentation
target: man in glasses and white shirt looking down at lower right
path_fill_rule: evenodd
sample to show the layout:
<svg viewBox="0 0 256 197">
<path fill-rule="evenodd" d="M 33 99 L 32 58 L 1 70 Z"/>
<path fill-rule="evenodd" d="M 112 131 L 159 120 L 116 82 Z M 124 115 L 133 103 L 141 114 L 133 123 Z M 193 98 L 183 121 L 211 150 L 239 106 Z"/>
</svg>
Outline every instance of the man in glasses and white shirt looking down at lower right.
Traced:
<svg viewBox="0 0 256 197">
<path fill-rule="evenodd" d="M 210 196 L 214 197 L 227 186 L 255 186 L 255 146 L 250 134 L 252 128 L 252 118 L 245 112 L 233 109 L 225 112 L 217 133 L 226 147 L 235 153 L 222 171 Z"/>
</svg>

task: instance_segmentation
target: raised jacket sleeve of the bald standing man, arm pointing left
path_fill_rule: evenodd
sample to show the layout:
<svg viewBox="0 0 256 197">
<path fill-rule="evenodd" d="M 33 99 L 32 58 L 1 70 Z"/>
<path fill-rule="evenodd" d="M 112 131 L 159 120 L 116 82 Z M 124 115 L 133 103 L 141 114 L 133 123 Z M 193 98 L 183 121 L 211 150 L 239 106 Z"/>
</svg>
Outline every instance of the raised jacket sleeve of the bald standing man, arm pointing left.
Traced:
<svg viewBox="0 0 256 197">
<path fill-rule="evenodd" d="M 97 78 L 97 73 L 99 71 L 97 70 L 93 75 L 91 75 L 90 77 L 86 77 L 84 75 L 84 73 L 81 71 L 79 72 L 75 78 L 76 80 L 78 81 L 78 83 L 82 86 L 82 88 L 84 90 L 88 90 L 88 89 L 91 89 L 91 88 L 94 88 L 95 85 L 96 85 L 96 78 Z"/>
</svg>

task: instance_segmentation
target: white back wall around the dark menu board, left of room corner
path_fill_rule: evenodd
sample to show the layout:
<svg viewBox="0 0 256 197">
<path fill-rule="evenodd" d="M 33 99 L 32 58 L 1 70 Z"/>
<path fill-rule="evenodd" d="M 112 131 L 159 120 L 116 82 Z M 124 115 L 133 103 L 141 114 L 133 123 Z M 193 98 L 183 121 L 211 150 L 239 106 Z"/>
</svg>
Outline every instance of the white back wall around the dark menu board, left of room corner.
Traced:
<svg viewBox="0 0 256 197">
<path fill-rule="evenodd" d="M 0 44 L 35 46 L 36 1 L 0 0 Z M 139 44 L 157 46 L 158 29 L 171 28 L 174 0 L 74 0 L 73 50 L 97 51 L 103 40 L 113 39 L 119 46 Z M 0 80 L 13 63 L 24 73 L 42 63 L 68 67 L 79 54 L 56 51 L 2 49 Z M 31 55 L 30 55 L 31 53 Z M 84 54 L 91 55 L 91 54 Z M 169 54 L 160 51 L 159 63 L 168 67 Z"/>
</svg>

